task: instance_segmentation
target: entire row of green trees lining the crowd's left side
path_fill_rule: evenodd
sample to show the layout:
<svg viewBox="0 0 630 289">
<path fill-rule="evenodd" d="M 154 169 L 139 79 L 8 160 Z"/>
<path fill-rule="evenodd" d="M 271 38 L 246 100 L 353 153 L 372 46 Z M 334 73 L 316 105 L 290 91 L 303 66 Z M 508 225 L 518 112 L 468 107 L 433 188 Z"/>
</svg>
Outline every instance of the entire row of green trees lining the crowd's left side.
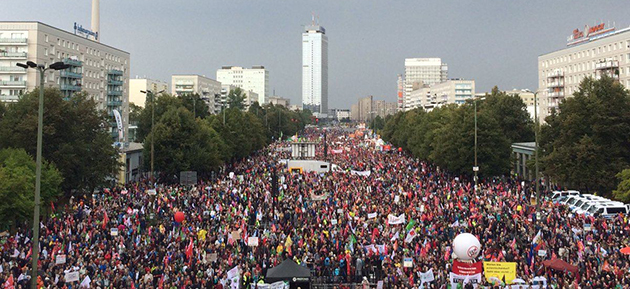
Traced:
<svg viewBox="0 0 630 289">
<path fill-rule="evenodd" d="M 87 93 L 68 100 L 57 88 L 44 91 L 42 204 L 60 197 L 111 186 L 122 163 L 109 132 L 113 115 L 98 108 Z M 0 225 L 32 216 L 39 91 L 11 104 L 0 103 Z M 130 105 L 130 123 L 144 145 L 144 170 L 155 141 L 155 170 L 175 181 L 180 171 L 207 177 L 222 164 L 245 158 L 278 138 L 287 138 L 311 122 L 309 111 L 254 103 L 244 111 L 244 94 L 235 89 L 228 106 L 213 115 L 197 94 L 147 98 L 145 108 Z M 154 127 L 151 130 L 151 110 Z"/>
</svg>

